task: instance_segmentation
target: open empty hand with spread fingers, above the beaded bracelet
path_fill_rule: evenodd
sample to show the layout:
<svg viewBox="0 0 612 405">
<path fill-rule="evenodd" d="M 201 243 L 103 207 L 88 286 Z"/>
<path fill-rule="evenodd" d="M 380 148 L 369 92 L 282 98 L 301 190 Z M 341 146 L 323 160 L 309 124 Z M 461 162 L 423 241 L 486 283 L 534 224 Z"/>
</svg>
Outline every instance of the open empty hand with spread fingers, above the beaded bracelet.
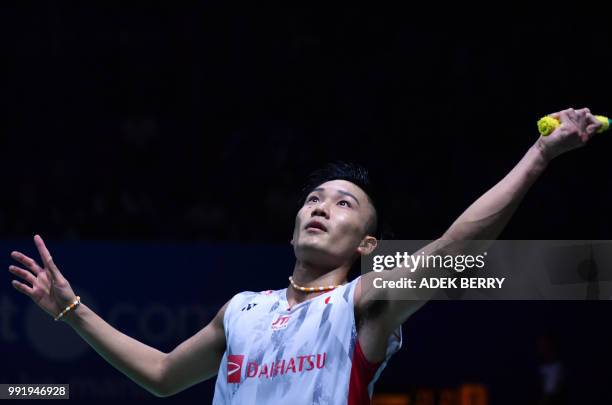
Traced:
<svg viewBox="0 0 612 405">
<path fill-rule="evenodd" d="M 74 302 L 76 295 L 70 283 L 53 263 L 51 254 L 39 235 L 34 236 L 34 244 L 40 254 L 43 267 L 21 252 L 11 252 L 11 257 L 24 268 L 11 265 L 9 271 L 31 285 L 13 280 L 13 287 L 30 297 L 36 305 L 55 318 Z"/>
</svg>

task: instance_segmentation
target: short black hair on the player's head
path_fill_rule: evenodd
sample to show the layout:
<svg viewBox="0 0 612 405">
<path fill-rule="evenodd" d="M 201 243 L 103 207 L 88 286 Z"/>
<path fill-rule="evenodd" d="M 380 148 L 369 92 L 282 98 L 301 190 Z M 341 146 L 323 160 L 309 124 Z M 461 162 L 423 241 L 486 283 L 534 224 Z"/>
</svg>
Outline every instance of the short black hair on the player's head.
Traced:
<svg viewBox="0 0 612 405">
<path fill-rule="evenodd" d="M 392 236 L 391 229 L 382 215 L 382 193 L 374 186 L 368 170 L 357 163 L 336 161 L 313 171 L 302 188 L 300 204 L 304 204 L 312 190 L 331 180 L 349 181 L 366 193 L 370 204 L 374 207 L 374 221 L 368 227 L 368 234 L 377 239 L 388 239 Z"/>
</svg>

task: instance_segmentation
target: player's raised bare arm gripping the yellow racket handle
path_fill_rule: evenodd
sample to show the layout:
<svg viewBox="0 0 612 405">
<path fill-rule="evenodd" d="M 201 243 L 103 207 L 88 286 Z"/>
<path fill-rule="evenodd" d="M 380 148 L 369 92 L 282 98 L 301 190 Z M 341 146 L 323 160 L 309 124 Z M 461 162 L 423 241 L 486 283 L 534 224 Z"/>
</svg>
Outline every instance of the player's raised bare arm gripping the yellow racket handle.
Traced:
<svg viewBox="0 0 612 405">
<path fill-rule="evenodd" d="M 552 114 L 561 121 L 561 126 L 547 137 L 540 137 L 529 148 L 519 163 L 501 181 L 478 198 L 453 222 L 442 237 L 420 249 L 426 255 L 461 254 L 461 241 L 496 239 L 504 229 L 523 197 L 542 174 L 550 160 L 571 149 L 586 144 L 601 126 L 601 123 L 588 109 L 564 110 Z M 400 280 L 403 277 L 415 278 L 419 269 L 396 268 L 382 273 L 369 273 L 361 280 L 356 295 L 358 311 L 380 328 L 382 335 L 389 334 L 401 325 L 414 311 L 420 308 L 423 300 L 401 300 L 405 291 L 401 289 L 371 288 L 374 278 Z M 384 301 L 379 301 L 384 300 Z"/>
</svg>

